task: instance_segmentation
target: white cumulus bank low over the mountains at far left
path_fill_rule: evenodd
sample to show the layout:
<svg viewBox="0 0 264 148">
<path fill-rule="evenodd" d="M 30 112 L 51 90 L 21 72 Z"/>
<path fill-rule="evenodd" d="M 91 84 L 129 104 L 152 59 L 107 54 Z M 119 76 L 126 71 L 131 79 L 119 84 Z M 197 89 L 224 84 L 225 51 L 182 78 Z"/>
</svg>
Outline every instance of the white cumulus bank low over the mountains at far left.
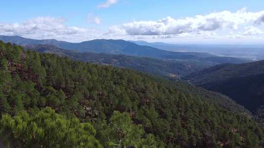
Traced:
<svg viewBox="0 0 264 148">
<path fill-rule="evenodd" d="M 100 33 L 93 29 L 66 26 L 63 18 L 38 17 L 22 23 L 0 23 L 0 35 L 19 35 L 29 38 L 55 38 L 67 41 L 79 41 L 88 37 L 98 37 Z"/>
</svg>

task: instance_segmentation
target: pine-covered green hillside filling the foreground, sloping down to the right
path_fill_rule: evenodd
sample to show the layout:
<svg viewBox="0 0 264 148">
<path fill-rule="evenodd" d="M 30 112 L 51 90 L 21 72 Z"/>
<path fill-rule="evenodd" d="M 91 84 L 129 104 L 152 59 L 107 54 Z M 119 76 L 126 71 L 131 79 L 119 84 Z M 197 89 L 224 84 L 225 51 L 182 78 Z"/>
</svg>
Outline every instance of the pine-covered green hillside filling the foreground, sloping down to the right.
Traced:
<svg viewBox="0 0 264 148">
<path fill-rule="evenodd" d="M 195 88 L 0 42 L 0 131 L 13 148 L 263 146 L 246 110 Z"/>
</svg>

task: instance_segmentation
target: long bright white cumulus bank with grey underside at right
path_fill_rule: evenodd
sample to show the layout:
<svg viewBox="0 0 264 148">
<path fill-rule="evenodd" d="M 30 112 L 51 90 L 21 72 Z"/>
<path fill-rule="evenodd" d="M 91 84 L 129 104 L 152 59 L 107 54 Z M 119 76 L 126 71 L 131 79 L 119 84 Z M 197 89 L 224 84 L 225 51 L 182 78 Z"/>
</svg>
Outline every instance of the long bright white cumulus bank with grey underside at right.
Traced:
<svg viewBox="0 0 264 148">
<path fill-rule="evenodd" d="M 166 17 L 157 21 L 133 21 L 111 26 L 109 34 L 122 33 L 126 35 L 177 35 L 193 32 L 216 31 L 220 29 L 237 30 L 239 25 L 262 21 L 264 11 L 247 12 L 245 9 L 235 13 L 230 11 L 215 12 L 208 15 L 197 15 L 183 19 Z"/>
</svg>

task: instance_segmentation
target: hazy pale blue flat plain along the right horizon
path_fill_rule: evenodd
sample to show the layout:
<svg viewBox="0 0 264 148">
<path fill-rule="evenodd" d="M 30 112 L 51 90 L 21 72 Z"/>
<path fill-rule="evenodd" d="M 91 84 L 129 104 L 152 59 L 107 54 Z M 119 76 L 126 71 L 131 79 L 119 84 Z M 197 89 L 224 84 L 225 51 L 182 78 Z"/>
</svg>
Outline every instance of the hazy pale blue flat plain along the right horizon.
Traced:
<svg viewBox="0 0 264 148">
<path fill-rule="evenodd" d="M 264 59 L 264 45 L 202 45 L 202 44 L 167 44 L 162 42 L 131 41 L 138 45 L 174 52 L 202 52 L 217 56 L 246 58 L 251 60 Z"/>
</svg>

